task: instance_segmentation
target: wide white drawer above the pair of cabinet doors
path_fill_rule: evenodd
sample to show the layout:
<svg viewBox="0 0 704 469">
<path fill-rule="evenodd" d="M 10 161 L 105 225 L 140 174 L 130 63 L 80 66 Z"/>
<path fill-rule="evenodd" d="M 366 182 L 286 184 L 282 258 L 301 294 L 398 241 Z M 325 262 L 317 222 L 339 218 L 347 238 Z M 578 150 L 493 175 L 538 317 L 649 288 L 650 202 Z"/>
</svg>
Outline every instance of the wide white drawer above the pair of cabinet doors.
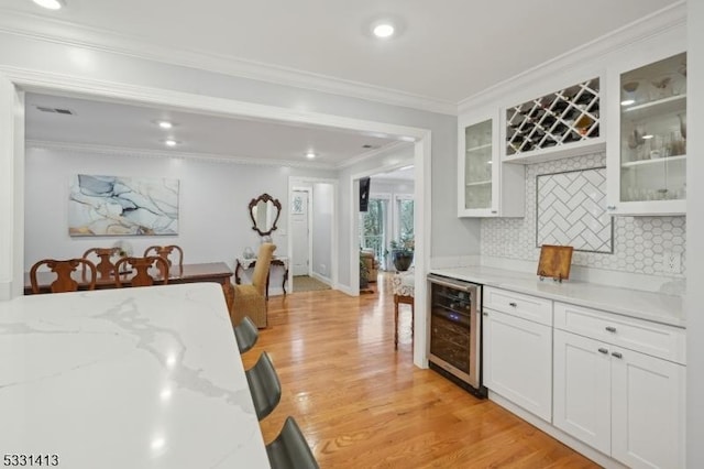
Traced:
<svg viewBox="0 0 704 469">
<path fill-rule="evenodd" d="M 685 330 L 556 302 L 554 327 L 685 364 Z"/>
</svg>

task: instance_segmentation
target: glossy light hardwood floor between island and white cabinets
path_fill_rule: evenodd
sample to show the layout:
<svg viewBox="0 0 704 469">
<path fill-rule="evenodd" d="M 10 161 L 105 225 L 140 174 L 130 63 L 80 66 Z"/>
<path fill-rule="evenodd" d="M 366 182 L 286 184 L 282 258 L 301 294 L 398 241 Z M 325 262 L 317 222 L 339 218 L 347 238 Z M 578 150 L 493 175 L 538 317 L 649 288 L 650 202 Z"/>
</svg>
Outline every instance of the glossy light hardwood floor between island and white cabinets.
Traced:
<svg viewBox="0 0 704 469">
<path fill-rule="evenodd" d="M 596 468 L 508 411 L 413 364 L 410 306 L 394 351 L 388 279 L 375 293 L 274 296 L 270 327 L 243 356 L 266 350 L 283 397 L 265 441 L 293 415 L 322 468 Z"/>
</svg>

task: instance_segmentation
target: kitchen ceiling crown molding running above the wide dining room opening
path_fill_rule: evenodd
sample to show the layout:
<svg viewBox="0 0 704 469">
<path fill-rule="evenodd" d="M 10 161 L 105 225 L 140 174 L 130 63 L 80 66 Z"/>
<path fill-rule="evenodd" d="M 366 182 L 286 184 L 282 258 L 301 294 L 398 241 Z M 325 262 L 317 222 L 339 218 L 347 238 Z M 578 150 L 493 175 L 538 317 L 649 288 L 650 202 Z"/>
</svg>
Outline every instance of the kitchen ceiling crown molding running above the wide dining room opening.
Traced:
<svg viewBox="0 0 704 469">
<path fill-rule="evenodd" d="M 0 31 L 40 41 L 118 53 L 169 65 L 365 99 L 384 105 L 450 116 L 457 114 L 457 103 L 447 100 L 206 51 L 176 50 L 168 45 L 145 43 L 136 37 L 113 31 L 11 10 L 2 11 L 0 14 Z"/>
</svg>

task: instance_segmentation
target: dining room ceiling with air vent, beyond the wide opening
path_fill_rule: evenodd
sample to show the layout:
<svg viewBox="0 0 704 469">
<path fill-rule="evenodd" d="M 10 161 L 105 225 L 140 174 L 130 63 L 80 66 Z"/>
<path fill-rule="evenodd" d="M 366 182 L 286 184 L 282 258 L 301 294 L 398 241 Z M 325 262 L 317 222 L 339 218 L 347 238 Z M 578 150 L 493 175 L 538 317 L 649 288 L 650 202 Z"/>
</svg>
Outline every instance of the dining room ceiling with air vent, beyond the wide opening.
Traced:
<svg viewBox="0 0 704 469">
<path fill-rule="evenodd" d="M 68 109 L 73 114 L 40 111 Z M 377 134 L 274 121 L 226 119 L 143 106 L 47 96 L 25 98 L 25 134 L 30 141 L 109 146 L 163 153 L 195 154 L 229 160 L 337 168 L 403 144 Z M 163 130 L 158 120 L 175 123 Z M 178 145 L 167 149 L 164 140 Z M 410 143 L 405 143 L 410 145 Z M 371 145 L 371 148 L 364 148 Z M 306 159 L 312 150 L 317 157 Z"/>
</svg>

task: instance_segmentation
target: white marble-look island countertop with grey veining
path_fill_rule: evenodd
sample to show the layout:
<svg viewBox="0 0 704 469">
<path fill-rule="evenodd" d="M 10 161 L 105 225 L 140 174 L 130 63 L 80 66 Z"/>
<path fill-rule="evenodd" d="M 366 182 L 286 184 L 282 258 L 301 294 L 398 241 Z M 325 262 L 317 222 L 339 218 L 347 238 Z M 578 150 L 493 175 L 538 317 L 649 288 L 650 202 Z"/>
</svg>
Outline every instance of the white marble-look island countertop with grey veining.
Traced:
<svg viewBox="0 0 704 469">
<path fill-rule="evenodd" d="M 270 467 L 218 284 L 0 302 L 0 357 L 3 455 L 55 454 L 72 469 Z"/>
</svg>

